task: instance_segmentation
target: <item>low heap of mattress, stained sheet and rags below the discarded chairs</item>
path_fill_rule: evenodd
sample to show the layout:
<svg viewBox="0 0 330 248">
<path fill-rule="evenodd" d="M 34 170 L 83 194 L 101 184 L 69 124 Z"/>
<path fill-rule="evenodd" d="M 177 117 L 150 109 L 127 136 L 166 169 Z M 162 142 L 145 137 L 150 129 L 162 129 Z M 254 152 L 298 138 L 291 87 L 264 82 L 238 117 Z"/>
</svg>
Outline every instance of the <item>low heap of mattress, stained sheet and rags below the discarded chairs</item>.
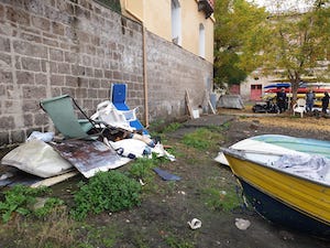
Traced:
<svg viewBox="0 0 330 248">
<path fill-rule="evenodd" d="M 96 114 L 94 119 L 100 116 Z M 105 112 L 102 115 L 105 118 Z M 160 139 L 134 131 L 129 125 L 116 127 L 111 119 L 107 120 L 111 129 L 100 128 L 102 132 L 98 139 L 63 139 L 54 132 L 33 131 L 24 143 L 2 158 L 1 165 L 35 176 L 26 184 L 38 186 L 53 185 L 77 173 L 89 179 L 97 172 L 122 166 L 136 158 L 156 155 L 175 161 Z M 0 172 L 0 186 L 10 185 L 14 180 L 12 170 Z"/>
</svg>

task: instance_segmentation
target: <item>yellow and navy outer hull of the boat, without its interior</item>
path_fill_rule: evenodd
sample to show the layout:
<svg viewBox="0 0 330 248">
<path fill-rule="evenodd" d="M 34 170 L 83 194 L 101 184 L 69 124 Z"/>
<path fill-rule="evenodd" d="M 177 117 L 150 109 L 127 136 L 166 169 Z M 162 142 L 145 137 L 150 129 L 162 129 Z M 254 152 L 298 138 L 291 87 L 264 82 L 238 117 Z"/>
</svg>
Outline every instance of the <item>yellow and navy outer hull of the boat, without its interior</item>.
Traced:
<svg viewBox="0 0 330 248">
<path fill-rule="evenodd" d="M 330 238 L 330 186 L 223 150 L 255 211 L 273 223 Z M 310 227 L 309 227 L 310 226 Z"/>
</svg>

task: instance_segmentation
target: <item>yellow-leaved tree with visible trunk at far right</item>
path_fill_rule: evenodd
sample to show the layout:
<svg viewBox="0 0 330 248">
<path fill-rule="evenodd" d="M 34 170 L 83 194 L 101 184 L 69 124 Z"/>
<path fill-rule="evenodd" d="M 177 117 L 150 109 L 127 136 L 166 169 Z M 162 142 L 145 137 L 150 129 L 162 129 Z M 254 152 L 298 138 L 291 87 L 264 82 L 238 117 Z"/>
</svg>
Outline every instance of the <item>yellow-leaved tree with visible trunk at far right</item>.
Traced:
<svg viewBox="0 0 330 248">
<path fill-rule="evenodd" d="M 282 69 L 292 83 L 293 103 L 304 76 L 321 78 L 329 72 L 329 1 L 314 0 L 307 12 L 288 10 L 267 19 L 262 72 Z"/>
</svg>

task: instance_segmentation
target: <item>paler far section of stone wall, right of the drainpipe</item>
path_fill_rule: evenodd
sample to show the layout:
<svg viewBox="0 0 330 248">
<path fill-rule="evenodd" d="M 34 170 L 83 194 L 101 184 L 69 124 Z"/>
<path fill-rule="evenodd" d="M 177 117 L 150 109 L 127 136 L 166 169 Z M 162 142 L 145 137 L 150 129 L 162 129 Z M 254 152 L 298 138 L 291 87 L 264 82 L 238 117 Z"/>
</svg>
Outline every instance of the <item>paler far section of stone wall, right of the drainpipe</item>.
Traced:
<svg viewBox="0 0 330 248">
<path fill-rule="evenodd" d="M 182 47 L 147 35 L 147 86 L 151 121 L 187 115 L 186 90 L 191 107 L 208 107 L 206 90 L 212 90 L 213 65 Z"/>
</svg>

